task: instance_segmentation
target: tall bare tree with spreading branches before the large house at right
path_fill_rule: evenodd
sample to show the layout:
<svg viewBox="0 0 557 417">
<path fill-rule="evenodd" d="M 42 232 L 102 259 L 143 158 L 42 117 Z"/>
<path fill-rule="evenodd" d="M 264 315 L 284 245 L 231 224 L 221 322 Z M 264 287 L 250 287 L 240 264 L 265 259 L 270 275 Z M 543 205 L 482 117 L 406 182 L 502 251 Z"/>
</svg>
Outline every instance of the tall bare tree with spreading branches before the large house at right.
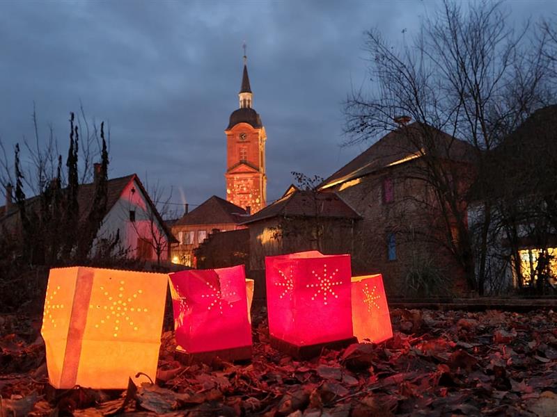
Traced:
<svg viewBox="0 0 557 417">
<path fill-rule="evenodd" d="M 393 47 L 379 32 L 369 31 L 366 50 L 374 83 L 368 93 L 352 92 L 345 105 L 345 145 L 397 129 L 400 115 L 418 122 L 420 138 L 408 141 L 422 158 L 416 178 L 432 188 L 434 212 L 442 220 L 438 235 L 446 236 L 445 244 L 462 265 L 469 286 L 480 294 L 492 203 L 483 199 L 476 264 L 463 198 L 470 183 L 459 181 L 462 167 L 444 163 L 455 159 L 455 146 L 450 140 L 440 142 L 437 129 L 471 145 L 473 174 L 480 180 L 476 193 L 485 196 L 484 180 L 490 175 L 485 152 L 549 97 L 546 39 L 534 39 L 528 24 L 515 31 L 507 17 L 500 3 L 461 6 L 444 1 L 439 13 L 423 20 L 411 44 Z"/>
</svg>

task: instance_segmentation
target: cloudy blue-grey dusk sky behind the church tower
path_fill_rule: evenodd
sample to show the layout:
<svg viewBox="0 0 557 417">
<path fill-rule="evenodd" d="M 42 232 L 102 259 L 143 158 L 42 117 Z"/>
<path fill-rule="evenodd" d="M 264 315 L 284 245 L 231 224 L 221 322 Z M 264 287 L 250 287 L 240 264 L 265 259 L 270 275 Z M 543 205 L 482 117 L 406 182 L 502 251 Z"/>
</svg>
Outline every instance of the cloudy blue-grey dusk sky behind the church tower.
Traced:
<svg viewBox="0 0 557 417">
<path fill-rule="evenodd" d="M 136 172 L 172 188 L 176 204 L 224 198 L 223 130 L 238 107 L 245 40 L 274 200 L 291 171 L 327 177 L 370 145 L 340 148 L 343 100 L 369 79 L 363 33 L 409 40 L 438 5 L 0 0 L 0 138 L 10 158 L 15 142 L 33 138 L 34 102 L 41 140 L 52 125 L 65 161 L 68 115 L 81 102 L 110 126 L 109 177 Z M 520 22 L 554 15 L 557 1 L 505 8 Z"/>
</svg>

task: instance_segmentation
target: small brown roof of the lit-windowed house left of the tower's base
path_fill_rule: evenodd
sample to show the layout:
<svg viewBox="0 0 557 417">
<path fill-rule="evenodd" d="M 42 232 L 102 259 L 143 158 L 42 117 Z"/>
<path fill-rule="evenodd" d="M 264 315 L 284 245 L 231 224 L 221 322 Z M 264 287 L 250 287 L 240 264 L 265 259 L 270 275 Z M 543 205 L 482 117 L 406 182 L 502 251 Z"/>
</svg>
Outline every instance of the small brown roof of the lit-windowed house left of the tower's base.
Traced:
<svg viewBox="0 0 557 417">
<path fill-rule="evenodd" d="M 238 224 L 246 219 L 244 208 L 213 195 L 194 210 L 178 219 L 173 226 L 186 224 Z"/>
</svg>

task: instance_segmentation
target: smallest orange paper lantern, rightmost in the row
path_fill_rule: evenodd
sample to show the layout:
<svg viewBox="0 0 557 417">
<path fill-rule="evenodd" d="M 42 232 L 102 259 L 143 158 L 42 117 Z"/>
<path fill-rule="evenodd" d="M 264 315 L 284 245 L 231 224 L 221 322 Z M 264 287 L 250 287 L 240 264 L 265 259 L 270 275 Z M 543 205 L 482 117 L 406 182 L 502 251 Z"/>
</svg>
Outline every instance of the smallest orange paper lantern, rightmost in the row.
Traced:
<svg viewBox="0 0 557 417">
<path fill-rule="evenodd" d="M 379 343 L 393 337 L 383 277 L 352 277 L 352 322 L 360 342 Z"/>
</svg>

